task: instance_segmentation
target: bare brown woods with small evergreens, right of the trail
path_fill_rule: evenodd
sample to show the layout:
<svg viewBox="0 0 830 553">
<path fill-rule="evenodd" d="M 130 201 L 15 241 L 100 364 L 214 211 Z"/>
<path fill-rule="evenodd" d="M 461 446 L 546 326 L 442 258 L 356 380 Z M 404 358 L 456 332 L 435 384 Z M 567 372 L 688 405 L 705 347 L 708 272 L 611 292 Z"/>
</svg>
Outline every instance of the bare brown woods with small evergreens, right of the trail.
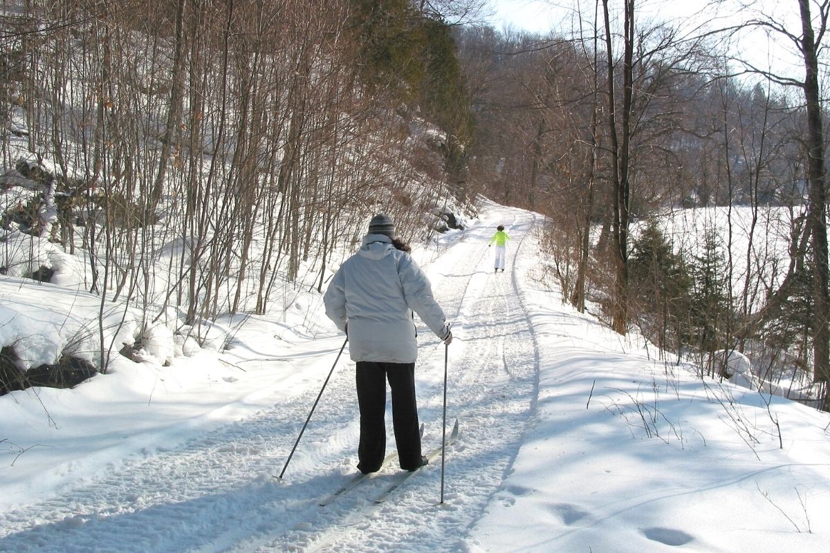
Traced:
<svg viewBox="0 0 830 553">
<path fill-rule="evenodd" d="M 762 360 L 762 380 L 806 371 L 821 398 L 828 3 L 790 3 L 791 29 L 760 2 L 740 25 L 689 32 L 603 1 L 579 2 L 568 32 L 466 27 L 457 40 L 476 114 L 471 180 L 548 217 L 550 270 L 575 307 L 709 376 L 731 352 Z M 756 28 L 795 45 L 801 67 L 736 56 L 728 39 Z"/>
</svg>

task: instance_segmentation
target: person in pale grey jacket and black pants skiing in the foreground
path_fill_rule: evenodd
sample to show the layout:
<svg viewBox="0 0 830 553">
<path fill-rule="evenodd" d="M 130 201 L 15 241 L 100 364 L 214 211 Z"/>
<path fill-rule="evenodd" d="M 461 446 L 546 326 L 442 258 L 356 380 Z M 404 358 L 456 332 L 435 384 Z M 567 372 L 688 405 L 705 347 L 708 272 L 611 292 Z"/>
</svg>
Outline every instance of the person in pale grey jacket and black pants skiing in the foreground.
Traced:
<svg viewBox="0 0 830 553">
<path fill-rule="evenodd" d="M 360 407 L 358 470 L 378 471 L 386 454 L 386 381 L 392 389 L 392 420 L 398 461 L 413 471 L 427 464 L 415 398 L 416 332 L 413 311 L 442 342 L 452 342 L 427 275 L 395 238 L 385 215 L 369 223 L 360 249 L 340 266 L 323 297 L 325 314 L 349 337 Z"/>
</svg>

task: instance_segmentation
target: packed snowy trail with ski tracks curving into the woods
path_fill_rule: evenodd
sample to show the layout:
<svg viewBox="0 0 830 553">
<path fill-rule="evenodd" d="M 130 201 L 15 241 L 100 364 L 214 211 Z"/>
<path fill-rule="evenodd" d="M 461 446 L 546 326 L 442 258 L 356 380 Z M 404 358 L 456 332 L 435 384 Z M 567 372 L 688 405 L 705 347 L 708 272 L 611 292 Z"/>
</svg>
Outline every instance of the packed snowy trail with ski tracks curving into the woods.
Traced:
<svg viewBox="0 0 830 553">
<path fill-rule="evenodd" d="M 494 217 L 502 224 L 513 220 L 509 253 L 515 260 L 534 216 L 494 206 L 488 219 Z M 514 264 L 492 272 L 491 230 L 473 227 L 433 262 L 443 275 L 433 279 L 433 292 L 455 337 L 447 432 L 456 418 L 461 427 L 447 449 L 443 504 L 439 456 L 382 505 L 374 497 L 388 487 L 397 465 L 329 506 L 317 505 L 357 463 L 354 364 L 343 361 L 344 352 L 285 480 L 273 475 L 319 393 L 314 386 L 181 447 L 130 458 L 94 482 L 7 512 L 0 551 L 466 551 L 462 540 L 509 473 L 538 393 L 538 352 Z M 441 443 L 444 351 L 422 324 L 418 336 L 426 452 Z M 388 450 L 393 444 L 390 437 Z"/>
</svg>

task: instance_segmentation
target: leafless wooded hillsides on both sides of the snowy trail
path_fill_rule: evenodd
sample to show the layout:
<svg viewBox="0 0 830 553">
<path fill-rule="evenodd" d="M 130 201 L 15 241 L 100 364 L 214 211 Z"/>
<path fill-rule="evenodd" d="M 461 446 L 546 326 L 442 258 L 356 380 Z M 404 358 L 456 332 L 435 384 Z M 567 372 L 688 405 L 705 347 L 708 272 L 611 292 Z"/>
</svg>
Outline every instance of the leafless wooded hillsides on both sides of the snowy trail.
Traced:
<svg viewBox="0 0 830 553">
<path fill-rule="evenodd" d="M 102 309 L 199 337 L 324 290 L 375 212 L 424 241 L 483 195 L 545 217 L 580 311 L 701 376 L 746 354 L 830 410 L 830 2 L 743 3 L 690 28 L 574 2 L 540 35 L 471 0 L 4 0 L 2 273 L 56 282 L 70 255 Z M 753 30 L 798 67 L 736 53 Z"/>
</svg>

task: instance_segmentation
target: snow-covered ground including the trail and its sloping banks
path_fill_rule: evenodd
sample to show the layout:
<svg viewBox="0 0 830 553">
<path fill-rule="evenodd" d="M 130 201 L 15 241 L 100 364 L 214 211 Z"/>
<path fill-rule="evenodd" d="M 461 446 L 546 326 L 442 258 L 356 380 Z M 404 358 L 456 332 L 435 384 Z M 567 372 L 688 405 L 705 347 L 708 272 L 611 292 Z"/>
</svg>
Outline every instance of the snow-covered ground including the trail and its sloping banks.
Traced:
<svg viewBox="0 0 830 553">
<path fill-rule="evenodd" d="M 486 204 L 416 252 L 455 337 L 442 504 L 439 459 L 381 505 L 395 466 L 318 506 L 357 462 L 345 354 L 274 478 L 344 341 L 309 293 L 293 315 L 247 318 L 222 352 L 180 344 L 170 366 L 156 352 L 0 397 L 0 551 L 830 551 L 830 415 L 700 381 L 563 306 L 540 282 L 535 223 Z M 503 274 L 486 245 L 498 224 Z M 78 293 L 0 277 L 2 303 L 61 291 Z M 445 348 L 422 325 L 419 340 L 432 449 Z"/>
</svg>

